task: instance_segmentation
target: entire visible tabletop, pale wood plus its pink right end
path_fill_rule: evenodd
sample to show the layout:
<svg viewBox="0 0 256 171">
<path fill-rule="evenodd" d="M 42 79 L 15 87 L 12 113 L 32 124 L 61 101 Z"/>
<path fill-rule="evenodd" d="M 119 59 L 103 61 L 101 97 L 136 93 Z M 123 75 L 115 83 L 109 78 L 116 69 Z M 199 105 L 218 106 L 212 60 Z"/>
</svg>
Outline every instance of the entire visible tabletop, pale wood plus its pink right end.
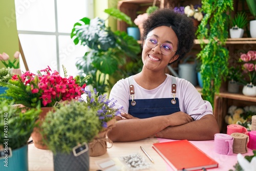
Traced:
<svg viewBox="0 0 256 171">
<path fill-rule="evenodd" d="M 111 148 L 108 148 L 108 152 L 99 157 L 90 157 L 90 170 L 96 171 L 99 169 L 96 162 L 102 160 L 114 160 L 120 156 L 126 156 L 130 154 L 139 153 L 144 155 L 140 149 L 142 146 L 145 151 L 150 154 L 154 159 L 155 163 L 151 163 L 151 168 L 147 170 L 173 170 L 165 161 L 157 154 L 157 152 L 152 148 L 152 143 L 156 142 L 166 142 L 166 141 L 175 141 L 162 138 L 147 138 L 135 142 L 115 142 Z M 237 154 L 231 156 L 220 155 L 214 152 L 214 140 L 210 141 L 190 141 L 198 148 L 200 148 L 204 153 L 213 158 L 219 163 L 218 168 L 207 169 L 209 171 L 215 170 L 229 170 L 233 169 L 233 165 L 237 163 Z M 110 145 L 110 144 L 109 144 Z M 252 149 L 248 148 L 248 152 L 243 154 L 252 155 Z M 144 155 L 146 158 L 146 156 Z M 52 171 L 53 170 L 53 155 L 52 152 L 45 149 L 38 149 L 34 144 L 28 145 L 28 158 L 29 158 L 29 171 Z M 149 161 L 149 160 L 148 160 Z M 73 170 L 75 171 L 75 170 Z"/>
</svg>

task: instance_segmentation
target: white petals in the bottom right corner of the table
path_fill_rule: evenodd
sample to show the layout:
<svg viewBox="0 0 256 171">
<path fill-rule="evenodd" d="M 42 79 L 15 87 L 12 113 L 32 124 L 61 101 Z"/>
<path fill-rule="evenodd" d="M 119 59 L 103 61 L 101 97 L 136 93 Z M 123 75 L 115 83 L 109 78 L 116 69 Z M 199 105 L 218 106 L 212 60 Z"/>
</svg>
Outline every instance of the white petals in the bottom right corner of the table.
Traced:
<svg viewBox="0 0 256 171">
<path fill-rule="evenodd" d="M 238 163 L 245 171 L 255 171 L 256 170 L 256 157 L 251 159 L 249 162 L 247 159 L 244 158 L 243 155 L 240 153 L 237 155 Z"/>
</svg>

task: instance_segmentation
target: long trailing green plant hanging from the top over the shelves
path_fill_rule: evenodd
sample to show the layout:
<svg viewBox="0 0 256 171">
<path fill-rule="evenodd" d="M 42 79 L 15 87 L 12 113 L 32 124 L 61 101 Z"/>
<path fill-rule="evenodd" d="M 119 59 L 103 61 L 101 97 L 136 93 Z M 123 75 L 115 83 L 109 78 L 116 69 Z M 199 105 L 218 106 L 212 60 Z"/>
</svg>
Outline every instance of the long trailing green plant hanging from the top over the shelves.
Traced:
<svg viewBox="0 0 256 171">
<path fill-rule="evenodd" d="M 225 42 L 228 37 L 227 12 L 230 10 L 233 10 L 232 0 L 202 0 L 202 11 L 205 15 L 196 33 L 202 50 L 197 57 L 202 61 L 202 95 L 212 105 L 215 93 L 219 93 L 222 79 L 228 74 L 229 52 L 225 48 Z M 207 44 L 204 39 L 208 39 Z"/>
</svg>

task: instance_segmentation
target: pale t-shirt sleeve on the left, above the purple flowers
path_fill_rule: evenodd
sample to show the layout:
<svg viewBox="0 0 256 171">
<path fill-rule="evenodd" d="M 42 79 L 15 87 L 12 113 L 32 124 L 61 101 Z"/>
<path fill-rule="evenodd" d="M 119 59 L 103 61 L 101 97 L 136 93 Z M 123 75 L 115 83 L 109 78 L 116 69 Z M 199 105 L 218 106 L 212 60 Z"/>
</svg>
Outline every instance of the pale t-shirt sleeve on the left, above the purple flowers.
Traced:
<svg viewBox="0 0 256 171">
<path fill-rule="evenodd" d="M 129 82 L 127 79 L 121 79 L 113 86 L 109 99 L 115 101 L 114 108 L 121 109 L 121 112 L 128 112 L 129 109 Z"/>
</svg>

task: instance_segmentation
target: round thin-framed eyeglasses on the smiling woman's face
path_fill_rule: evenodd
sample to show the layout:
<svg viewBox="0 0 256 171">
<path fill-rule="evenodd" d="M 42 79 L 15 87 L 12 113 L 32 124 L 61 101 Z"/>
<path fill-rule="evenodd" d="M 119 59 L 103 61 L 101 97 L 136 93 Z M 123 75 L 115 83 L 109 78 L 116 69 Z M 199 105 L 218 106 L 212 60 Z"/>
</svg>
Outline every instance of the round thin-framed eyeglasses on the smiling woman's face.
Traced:
<svg viewBox="0 0 256 171">
<path fill-rule="evenodd" d="M 158 39 L 155 36 L 148 36 L 145 38 L 145 43 L 148 48 L 153 49 L 153 48 L 157 47 L 157 45 L 160 42 L 158 41 Z M 166 43 L 166 42 L 160 45 L 160 50 L 163 55 L 169 55 L 170 53 L 172 53 L 172 51 L 174 51 L 173 45 Z M 174 52 L 176 52 L 176 51 L 174 51 Z"/>
</svg>

